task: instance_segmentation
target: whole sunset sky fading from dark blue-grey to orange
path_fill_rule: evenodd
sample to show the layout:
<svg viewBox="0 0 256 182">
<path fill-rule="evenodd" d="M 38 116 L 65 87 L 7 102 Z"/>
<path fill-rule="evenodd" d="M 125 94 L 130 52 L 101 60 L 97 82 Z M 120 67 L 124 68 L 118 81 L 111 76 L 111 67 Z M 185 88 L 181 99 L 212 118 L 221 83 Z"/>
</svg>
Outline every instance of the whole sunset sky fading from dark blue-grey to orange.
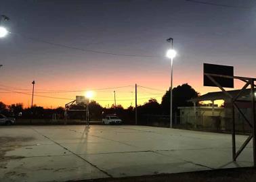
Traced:
<svg viewBox="0 0 256 182">
<path fill-rule="evenodd" d="M 170 85 L 169 37 L 178 53 L 174 86 L 219 91 L 202 86 L 202 63 L 234 65 L 235 75 L 255 78 L 255 1 L 204 1 L 234 7 L 185 0 L 2 0 L 0 13 L 11 18 L 5 26 L 12 34 L 0 39 L 0 101 L 30 107 L 35 80 L 34 103 L 43 107 L 64 107 L 86 90 L 95 90 L 93 100 L 103 107 L 114 103 L 114 90 L 117 104 L 134 106 L 135 84 L 139 104 L 161 102 Z"/>
</svg>

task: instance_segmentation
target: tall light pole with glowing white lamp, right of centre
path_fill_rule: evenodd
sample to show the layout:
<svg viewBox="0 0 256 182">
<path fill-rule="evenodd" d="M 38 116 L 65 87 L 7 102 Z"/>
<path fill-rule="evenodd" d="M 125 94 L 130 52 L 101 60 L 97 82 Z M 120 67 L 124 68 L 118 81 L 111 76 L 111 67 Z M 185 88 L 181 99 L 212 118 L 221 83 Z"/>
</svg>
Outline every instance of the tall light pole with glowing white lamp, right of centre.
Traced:
<svg viewBox="0 0 256 182">
<path fill-rule="evenodd" d="M 170 128 L 173 127 L 173 58 L 176 51 L 173 49 L 173 38 L 168 38 L 167 42 L 171 43 L 171 49 L 167 51 L 166 56 L 171 59 L 171 86 L 170 86 Z"/>
</svg>

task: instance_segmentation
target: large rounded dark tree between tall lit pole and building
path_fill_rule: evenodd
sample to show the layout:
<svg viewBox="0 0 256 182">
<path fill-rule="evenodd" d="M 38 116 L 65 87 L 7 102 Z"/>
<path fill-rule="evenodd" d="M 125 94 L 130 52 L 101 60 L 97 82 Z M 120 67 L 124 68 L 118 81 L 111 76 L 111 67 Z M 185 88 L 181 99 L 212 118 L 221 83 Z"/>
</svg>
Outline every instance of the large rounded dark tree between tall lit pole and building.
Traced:
<svg viewBox="0 0 256 182">
<path fill-rule="evenodd" d="M 191 98 L 198 96 L 198 92 L 189 84 L 182 84 L 173 88 L 173 113 L 177 112 L 177 107 L 193 106 L 192 102 L 188 102 Z M 169 115 L 170 113 L 170 90 L 168 90 L 162 98 L 161 106 L 163 114 Z M 173 115 L 174 117 L 174 115 Z"/>
</svg>

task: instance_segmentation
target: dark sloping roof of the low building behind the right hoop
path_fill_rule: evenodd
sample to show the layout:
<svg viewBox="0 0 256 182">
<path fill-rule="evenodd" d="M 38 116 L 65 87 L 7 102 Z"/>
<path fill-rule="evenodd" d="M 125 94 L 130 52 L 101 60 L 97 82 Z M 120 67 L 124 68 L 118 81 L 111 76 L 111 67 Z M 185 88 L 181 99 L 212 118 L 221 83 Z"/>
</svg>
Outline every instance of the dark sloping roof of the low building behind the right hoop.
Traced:
<svg viewBox="0 0 256 182">
<path fill-rule="evenodd" d="M 230 90 L 227 91 L 231 96 L 235 97 L 238 95 L 238 93 L 240 92 L 240 90 Z M 240 97 L 238 98 L 239 100 L 250 100 L 249 96 L 250 96 L 250 89 L 246 89 L 244 90 L 244 92 L 242 92 L 240 94 Z M 230 98 L 224 93 L 224 92 L 209 92 L 207 94 L 204 94 L 202 96 L 198 96 L 196 98 L 192 98 L 188 101 L 190 102 L 199 102 L 199 101 L 205 101 L 205 100 L 229 100 Z"/>
</svg>

